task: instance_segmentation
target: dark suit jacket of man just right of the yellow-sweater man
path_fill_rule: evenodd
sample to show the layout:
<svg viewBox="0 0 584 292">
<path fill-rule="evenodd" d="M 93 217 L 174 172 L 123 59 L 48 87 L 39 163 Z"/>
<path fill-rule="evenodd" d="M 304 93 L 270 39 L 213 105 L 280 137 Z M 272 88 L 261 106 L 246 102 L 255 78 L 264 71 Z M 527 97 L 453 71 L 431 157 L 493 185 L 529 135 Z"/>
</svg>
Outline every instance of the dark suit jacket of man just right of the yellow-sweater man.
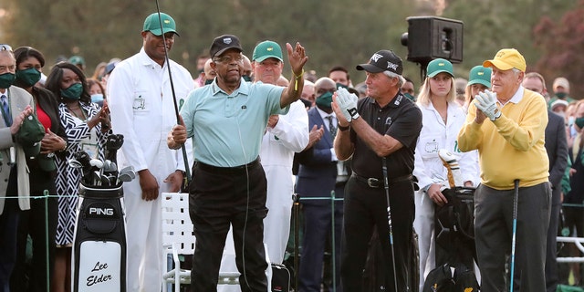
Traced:
<svg viewBox="0 0 584 292">
<path fill-rule="evenodd" d="M 549 183 L 552 184 L 552 203 L 559 202 L 561 180 L 568 166 L 568 142 L 564 118 L 547 110 L 546 151 L 549 159 Z"/>
</svg>

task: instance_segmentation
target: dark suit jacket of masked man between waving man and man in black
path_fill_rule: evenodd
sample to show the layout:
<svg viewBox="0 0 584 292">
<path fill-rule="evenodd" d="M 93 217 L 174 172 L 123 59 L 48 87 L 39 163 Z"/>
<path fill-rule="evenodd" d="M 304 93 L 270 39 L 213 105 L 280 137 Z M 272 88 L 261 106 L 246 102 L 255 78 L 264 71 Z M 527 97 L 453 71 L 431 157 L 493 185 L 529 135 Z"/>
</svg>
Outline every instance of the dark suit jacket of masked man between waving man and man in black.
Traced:
<svg viewBox="0 0 584 292">
<path fill-rule="evenodd" d="M 308 110 L 308 129 L 314 125 L 318 128 L 324 127 L 325 134 L 322 138 L 308 150 L 302 151 L 298 155 L 300 167 L 298 170 L 297 193 L 300 198 L 306 197 L 329 197 L 330 192 L 335 189 L 337 180 L 337 162 L 331 161 L 333 139 L 327 127 L 324 126 L 316 107 Z M 330 203 L 316 200 L 308 200 L 303 203 Z"/>
</svg>

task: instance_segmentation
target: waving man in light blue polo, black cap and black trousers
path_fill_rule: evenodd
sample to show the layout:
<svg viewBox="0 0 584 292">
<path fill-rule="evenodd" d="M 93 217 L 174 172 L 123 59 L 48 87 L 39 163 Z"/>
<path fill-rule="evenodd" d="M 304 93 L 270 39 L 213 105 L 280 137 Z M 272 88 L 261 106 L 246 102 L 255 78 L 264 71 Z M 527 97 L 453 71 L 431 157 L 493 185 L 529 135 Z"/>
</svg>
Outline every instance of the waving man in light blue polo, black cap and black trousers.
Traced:
<svg viewBox="0 0 584 292">
<path fill-rule="evenodd" d="M 209 86 L 195 89 L 181 110 L 168 146 L 193 137 L 195 166 L 189 212 L 196 238 L 193 291 L 216 291 L 225 236 L 233 225 L 236 264 L 242 291 L 267 291 L 266 174 L 258 160 L 270 115 L 286 114 L 304 86 L 304 47 L 287 44 L 293 71 L 287 88 L 242 82 L 243 48 L 237 36 L 214 39 L 209 50 L 217 73 Z"/>
</svg>

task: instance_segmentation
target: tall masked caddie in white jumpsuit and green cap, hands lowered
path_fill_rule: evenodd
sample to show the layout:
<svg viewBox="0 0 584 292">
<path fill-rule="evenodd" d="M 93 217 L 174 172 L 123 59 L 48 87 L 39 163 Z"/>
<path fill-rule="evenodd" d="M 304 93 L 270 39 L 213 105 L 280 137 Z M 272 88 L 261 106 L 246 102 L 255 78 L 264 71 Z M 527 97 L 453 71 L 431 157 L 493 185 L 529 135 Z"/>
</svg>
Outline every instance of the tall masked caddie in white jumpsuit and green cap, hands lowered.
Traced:
<svg viewBox="0 0 584 292">
<path fill-rule="evenodd" d="M 176 26 L 171 16 L 161 17 L 170 50 Z M 177 120 L 158 14 L 146 18 L 141 36 L 141 51 L 121 61 L 111 73 L 108 104 L 112 129 L 124 136 L 118 168 L 132 166 L 137 173 L 135 180 L 123 184 L 127 291 L 159 292 L 163 263 L 160 193 L 180 189 L 185 167 L 182 151 L 166 145 Z M 182 105 L 194 89 L 193 78 L 183 66 L 169 61 L 176 102 Z"/>
</svg>

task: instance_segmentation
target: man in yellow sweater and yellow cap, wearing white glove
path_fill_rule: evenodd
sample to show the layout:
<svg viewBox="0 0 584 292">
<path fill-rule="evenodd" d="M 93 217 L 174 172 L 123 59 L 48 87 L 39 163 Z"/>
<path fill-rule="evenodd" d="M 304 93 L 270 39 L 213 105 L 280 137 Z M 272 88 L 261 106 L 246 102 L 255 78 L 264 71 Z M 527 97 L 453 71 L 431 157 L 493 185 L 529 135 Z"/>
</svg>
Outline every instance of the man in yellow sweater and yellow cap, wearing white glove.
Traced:
<svg viewBox="0 0 584 292">
<path fill-rule="evenodd" d="M 458 134 L 462 151 L 479 152 L 481 184 L 474 193 L 474 232 L 481 290 L 506 291 L 509 283 L 504 271 L 512 247 L 514 181 L 518 180 L 515 288 L 545 291 L 551 203 L 544 147 L 546 101 L 521 86 L 527 65 L 516 49 L 501 49 L 483 66 L 493 68 L 493 92 L 475 97 Z"/>
</svg>

